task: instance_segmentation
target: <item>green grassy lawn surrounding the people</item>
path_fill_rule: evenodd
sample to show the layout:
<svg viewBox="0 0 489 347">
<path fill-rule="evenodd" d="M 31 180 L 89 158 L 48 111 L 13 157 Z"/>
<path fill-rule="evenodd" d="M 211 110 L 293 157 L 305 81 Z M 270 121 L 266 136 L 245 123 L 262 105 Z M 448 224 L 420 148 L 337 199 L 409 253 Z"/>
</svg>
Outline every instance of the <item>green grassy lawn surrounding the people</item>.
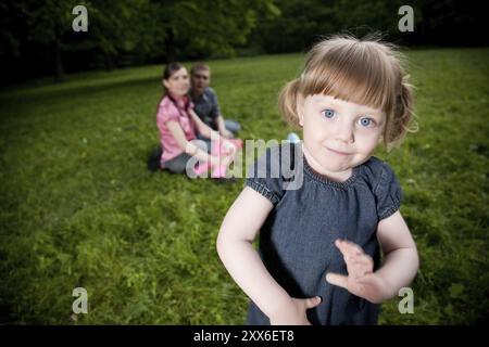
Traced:
<svg viewBox="0 0 489 347">
<path fill-rule="evenodd" d="M 408 53 L 419 131 L 377 155 L 404 190 L 422 265 L 414 314 L 384 324 L 477 323 L 489 311 L 489 49 Z M 280 87 L 302 55 L 213 61 L 243 139 L 284 139 Z M 0 91 L 0 323 L 240 324 L 248 299 L 215 239 L 242 182 L 149 172 L 162 66 Z M 72 317 L 73 288 L 89 312 Z"/>
</svg>

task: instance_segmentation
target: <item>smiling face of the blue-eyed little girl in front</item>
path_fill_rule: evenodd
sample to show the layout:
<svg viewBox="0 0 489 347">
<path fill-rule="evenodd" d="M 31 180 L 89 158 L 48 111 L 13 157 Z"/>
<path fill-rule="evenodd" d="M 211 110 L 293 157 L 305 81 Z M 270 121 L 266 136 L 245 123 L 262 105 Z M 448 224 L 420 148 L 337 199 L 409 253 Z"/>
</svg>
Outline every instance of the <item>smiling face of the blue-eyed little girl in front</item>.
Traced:
<svg viewBox="0 0 489 347">
<path fill-rule="evenodd" d="M 303 127 L 303 152 L 318 174 L 347 179 L 351 168 L 366 162 L 384 130 L 379 108 L 315 94 L 302 100 L 299 120 Z"/>
</svg>

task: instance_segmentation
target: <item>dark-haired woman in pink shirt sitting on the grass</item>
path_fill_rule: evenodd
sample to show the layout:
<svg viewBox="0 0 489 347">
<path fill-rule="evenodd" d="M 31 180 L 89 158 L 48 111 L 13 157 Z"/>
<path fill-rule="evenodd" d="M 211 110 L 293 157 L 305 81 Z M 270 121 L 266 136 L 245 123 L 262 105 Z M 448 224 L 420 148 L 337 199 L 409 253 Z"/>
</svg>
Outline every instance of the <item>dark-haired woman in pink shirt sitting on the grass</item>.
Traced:
<svg viewBox="0 0 489 347">
<path fill-rule="evenodd" d="M 156 114 L 163 150 L 161 168 L 172 172 L 186 172 L 187 162 L 192 156 L 201 162 L 210 162 L 213 166 L 228 165 L 233 160 L 234 153 L 230 150 L 234 145 L 206 126 L 193 112 L 193 105 L 187 95 L 190 88 L 187 69 L 179 63 L 168 64 L 163 73 L 163 86 L 166 92 Z M 196 140 L 197 133 L 222 141 L 223 146 L 229 151 L 223 157 L 209 155 L 210 149 L 205 145 L 198 146 L 189 142 Z"/>
</svg>

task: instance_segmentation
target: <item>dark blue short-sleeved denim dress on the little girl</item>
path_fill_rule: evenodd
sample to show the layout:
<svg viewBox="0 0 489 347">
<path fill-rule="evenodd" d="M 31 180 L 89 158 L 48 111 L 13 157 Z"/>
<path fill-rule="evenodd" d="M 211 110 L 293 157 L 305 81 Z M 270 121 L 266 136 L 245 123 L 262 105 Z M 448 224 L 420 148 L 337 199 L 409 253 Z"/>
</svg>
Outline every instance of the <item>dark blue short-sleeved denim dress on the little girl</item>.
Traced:
<svg viewBox="0 0 489 347">
<path fill-rule="evenodd" d="M 276 163 L 281 163 L 278 175 Z M 322 297 L 317 307 L 308 310 L 312 324 L 377 324 L 379 305 L 327 283 L 325 277 L 348 273 L 334 244 L 337 239 L 356 243 L 373 257 L 374 269 L 379 267 L 377 224 L 399 209 L 402 198 L 392 169 L 371 157 L 354 167 L 349 179 L 336 182 L 311 168 L 300 143 L 267 149 L 251 168 L 244 184 L 274 204 L 259 244 L 272 277 L 291 297 Z M 285 175 L 284 168 L 293 174 Z M 288 185 L 298 177 L 300 184 Z M 247 324 L 269 324 L 253 301 Z"/>
</svg>

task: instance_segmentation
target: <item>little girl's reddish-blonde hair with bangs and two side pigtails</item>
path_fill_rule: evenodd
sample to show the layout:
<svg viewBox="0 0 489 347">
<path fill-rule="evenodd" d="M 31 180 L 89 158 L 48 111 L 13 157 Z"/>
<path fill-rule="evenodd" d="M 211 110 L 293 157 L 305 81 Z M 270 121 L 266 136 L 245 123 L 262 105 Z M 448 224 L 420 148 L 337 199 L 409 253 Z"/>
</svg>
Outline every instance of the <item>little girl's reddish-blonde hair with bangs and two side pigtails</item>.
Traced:
<svg viewBox="0 0 489 347">
<path fill-rule="evenodd" d="M 336 35 L 316 43 L 308 54 L 300 78 L 279 95 L 285 118 L 299 126 L 298 103 L 309 95 L 326 94 L 380 108 L 386 115 L 383 133 L 387 150 L 400 144 L 414 117 L 413 87 L 404 70 L 404 56 L 378 36 L 356 39 Z"/>
</svg>

